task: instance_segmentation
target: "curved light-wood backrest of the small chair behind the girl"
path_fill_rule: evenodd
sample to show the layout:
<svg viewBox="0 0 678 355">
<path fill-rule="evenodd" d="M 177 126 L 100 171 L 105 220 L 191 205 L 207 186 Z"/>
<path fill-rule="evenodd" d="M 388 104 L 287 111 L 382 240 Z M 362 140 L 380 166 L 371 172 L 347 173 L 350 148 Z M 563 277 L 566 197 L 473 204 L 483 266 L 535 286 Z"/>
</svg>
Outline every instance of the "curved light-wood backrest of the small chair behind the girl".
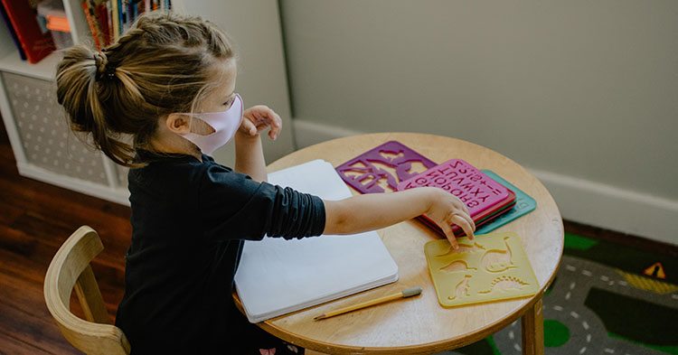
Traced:
<svg viewBox="0 0 678 355">
<path fill-rule="evenodd" d="M 122 330 L 110 324 L 89 262 L 104 249 L 99 234 L 82 226 L 61 245 L 47 269 L 44 298 L 47 308 L 71 344 L 89 355 L 127 355 L 129 341 Z M 71 313 L 75 289 L 82 305 L 83 320 Z"/>
</svg>

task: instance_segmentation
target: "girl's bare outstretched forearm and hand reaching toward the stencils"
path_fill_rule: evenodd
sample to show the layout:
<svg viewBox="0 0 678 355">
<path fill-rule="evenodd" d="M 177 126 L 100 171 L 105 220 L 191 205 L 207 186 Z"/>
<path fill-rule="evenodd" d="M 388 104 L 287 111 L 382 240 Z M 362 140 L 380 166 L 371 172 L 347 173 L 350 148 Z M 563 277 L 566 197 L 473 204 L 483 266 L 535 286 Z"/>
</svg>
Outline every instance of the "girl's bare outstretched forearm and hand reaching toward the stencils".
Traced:
<svg viewBox="0 0 678 355">
<path fill-rule="evenodd" d="M 445 190 L 420 187 L 403 192 L 368 193 L 341 201 L 325 201 L 324 234 L 353 234 L 381 229 L 426 214 L 438 223 L 449 243 L 458 248 L 456 224 L 474 238 L 476 230 L 462 201 Z"/>
</svg>

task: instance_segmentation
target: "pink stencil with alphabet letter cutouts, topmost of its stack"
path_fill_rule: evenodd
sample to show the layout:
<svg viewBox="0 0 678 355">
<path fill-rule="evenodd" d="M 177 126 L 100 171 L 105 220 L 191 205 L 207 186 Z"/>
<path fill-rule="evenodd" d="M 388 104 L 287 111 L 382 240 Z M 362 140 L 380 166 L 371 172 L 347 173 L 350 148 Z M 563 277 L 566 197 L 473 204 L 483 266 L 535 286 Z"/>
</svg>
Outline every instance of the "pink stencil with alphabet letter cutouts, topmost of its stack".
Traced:
<svg viewBox="0 0 678 355">
<path fill-rule="evenodd" d="M 457 196 L 466 204 L 474 220 L 478 213 L 504 201 L 509 195 L 504 185 L 495 182 L 461 159 L 448 160 L 407 181 L 400 182 L 398 190 L 419 186 L 436 186 Z"/>
</svg>

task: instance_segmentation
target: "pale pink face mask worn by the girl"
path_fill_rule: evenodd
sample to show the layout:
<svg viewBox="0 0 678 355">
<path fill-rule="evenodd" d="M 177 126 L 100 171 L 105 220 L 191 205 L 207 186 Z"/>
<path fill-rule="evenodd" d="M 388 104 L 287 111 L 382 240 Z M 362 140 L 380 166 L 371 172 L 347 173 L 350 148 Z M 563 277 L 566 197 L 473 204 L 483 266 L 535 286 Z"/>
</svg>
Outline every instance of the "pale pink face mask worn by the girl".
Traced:
<svg viewBox="0 0 678 355">
<path fill-rule="evenodd" d="M 183 114 L 201 119 L 214 129 L 209 135 L 198 135 L 193 132 L 183 134 L 194 145 L 198 145 L 202 153 L 212 154 L 222 145 L 229 143 L 233 135 L 238 131 L 242 122 L 242 98 L 235 94 L 231 107 L 221 112 L 203 112 L 198 114 Z"/>
</svg>

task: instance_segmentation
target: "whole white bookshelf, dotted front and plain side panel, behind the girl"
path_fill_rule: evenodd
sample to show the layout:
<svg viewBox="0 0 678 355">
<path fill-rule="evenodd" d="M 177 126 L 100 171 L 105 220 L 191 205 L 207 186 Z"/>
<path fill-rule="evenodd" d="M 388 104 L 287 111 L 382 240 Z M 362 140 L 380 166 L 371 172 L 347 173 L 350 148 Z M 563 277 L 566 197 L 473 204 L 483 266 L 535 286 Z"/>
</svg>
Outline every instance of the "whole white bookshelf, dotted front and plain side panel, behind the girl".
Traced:
<svg viewBox="0 0 678 355">
<path fill-rule="evenodd" d="M 62 2 L 71 24 L 73 43 L 91 45 L 93 41 L 91 33 L 89 33 L 89 24 L 81 7 L 81 0 L 62 0 Z M 172 0 L 172 7 L 175 12 L 197 14 L 211 20 L 230 33 L 232 37 L 248 44 L 246 50 L 240 51 L 240 58 L 246 64 L 243 66 L 245 68 L 243 73 L 239 75 L 238 91 L 246 98 L 248 105 L 267 104 L 269 107 L 274 107 L 278 114 L 283 117 L 283 126 L 286 127 L 278 135 L 275 143 L 264 139 L 266 159 L 268 162 L 272 162 L 284 154 L 294 151 L 278 3 L 270 0 L 193 0 L 190 2 Z M 255 18 L 257 21 L 251 21 Z M 260 23 L 266 23 L 266 25 Z M 240 49 L 242 49 L 242 46 L 240 46 Z M 122 179 L 119 178 L 121 175 L 120 168 L 110 162 L 104 154 L 87 152 L 84 145 L 75 136 L 63 137 L 60 132 L 59 139 L 61 142 L 59 144 L 66 142 L 68 154 L 74 164 L 77 165 L 78 161 L 83 159 L 83 156 L 87 157 L 86 162 L 80 162 L 81 168 L 85 170 L 85 175 L 87 167 L 90 165 L 89 161 L 97 165 L 100 172 L 105 175 L 103 178 L 98 176 L 97 181 L 92 182 L 88 179 L 72 176 L 65 166 L 54 166 L 57 163 L 56 160 L 44 162 L 42 150 L 36 150 L 35 142 L 32 143 L 26 139 L 28 135 L 26 126 L 31 126 L 33 121 L 38 123 L 38 125 L 33 124 L 33 126 L 42 125 L 42 119 L 47 119 L 49 123 L 59 121 L 66 125 L 66 119 L 56 102 L 52 102 L 54 107 L 51 108 L 51 111 L 49 109 L 45 111 L 44 103 L 39 102 L 37 98 L 34 103 L 25 102 L 30 101 L 30 98 L 16 98 L 18 90 L 25 90 L 25 88 L 17 88 L 16 81 L 29 81 L 29 86 L 32 86 L 31 89 L 34 86 L 35 89 L 33 90 L 40 91 L 43 96 L 42 99 L 44 99 L 46 91 L 56 92 L 53 80 L 60 59 L 61 52 L 55 51 L 36 64 L 22 61 L 6 27 L 0 26 L 0 113 L 2 113 L 7 135 L 10 138 L 19 173 L 26 177 L 108 201 L 128 204 L 127 184 L 124 182 L 123 186 Z M 55 99 L 52 100 L 55 101 Z M 32 108 L 30 106 L 33 106 L 33 104 L 35 107 L 42 107 L 42 116 L 33 117 L 33 121 L 31 121 L 31 116 L 35 115 L 28 112 L 29 117 L 25 116 L 26 110 L 30 110 Z M 31 138 L 34 140 L 35 137 L 32 136 Z M 53 140 L 55 138 L 45 135 L 42 139 Z M 45 146 L 44 150 L 48 148 L 49 146 Z M 233 151 L 231 144 L 221 148 L 213 156 L 218 162 L 232 166 L 232 163 L 234 163 Z"/>
</svg>

